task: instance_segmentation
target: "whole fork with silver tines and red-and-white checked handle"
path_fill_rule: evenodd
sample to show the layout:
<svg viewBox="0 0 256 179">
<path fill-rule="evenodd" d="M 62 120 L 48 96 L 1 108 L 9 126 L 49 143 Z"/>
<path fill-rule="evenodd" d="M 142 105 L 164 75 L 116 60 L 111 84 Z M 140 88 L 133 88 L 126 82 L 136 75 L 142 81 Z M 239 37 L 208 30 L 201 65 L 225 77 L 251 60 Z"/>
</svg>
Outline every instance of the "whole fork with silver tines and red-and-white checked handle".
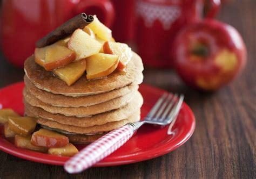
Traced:
<svg viewBox="0 0 256 179">
<path fill-rule="evenodd" d="M 129 140 L 140 126 L 145 123 L 156 125 L 170 124 L 169 132 L 176 121 L 184 95 L 172 95 L 165 92 L 154 104 L 151 111 L 142 121 L 128 123 L 113 130 L 82 149 L 78 154 L 65 162 L 64 169 L 70 173 L 79 173 L 104 159 Z M 168 132 L 168 133 L 169 133 Z"/>
</svg>

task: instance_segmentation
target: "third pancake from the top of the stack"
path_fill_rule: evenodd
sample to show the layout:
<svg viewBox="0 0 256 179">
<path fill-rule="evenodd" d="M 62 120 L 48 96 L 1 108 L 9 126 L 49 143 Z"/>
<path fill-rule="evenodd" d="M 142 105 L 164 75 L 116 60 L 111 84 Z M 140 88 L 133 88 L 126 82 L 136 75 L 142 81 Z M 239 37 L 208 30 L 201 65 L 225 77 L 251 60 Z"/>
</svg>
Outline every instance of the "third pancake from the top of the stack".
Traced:
<svg viewBox="0 0 256 179">
<path fill-rule="evenodd" d="M 36 106 L 44 109 L 50 113 L 63 114 L 65 116 L 75 116 L 75 117 L 90 117 L 94 114 L 103 113 L 106 111 L 111 111 L 114 109 L 121 108 L 122 106 L 129 103 L 134 96 L 136 96 L 139 92 L 131 92 L 125 96 L 121 96 L 110 101 L 96 104 L 88 107 L 80 107 L 80 108 L 59 108 L 56 106 L 51 106 L 49 104 L 45 104 L 35 96 L 31 95 L 26 88 L 23 90 L 23 99 L 26 103 L 29 103 L 31 106 Z"/>
</svg>

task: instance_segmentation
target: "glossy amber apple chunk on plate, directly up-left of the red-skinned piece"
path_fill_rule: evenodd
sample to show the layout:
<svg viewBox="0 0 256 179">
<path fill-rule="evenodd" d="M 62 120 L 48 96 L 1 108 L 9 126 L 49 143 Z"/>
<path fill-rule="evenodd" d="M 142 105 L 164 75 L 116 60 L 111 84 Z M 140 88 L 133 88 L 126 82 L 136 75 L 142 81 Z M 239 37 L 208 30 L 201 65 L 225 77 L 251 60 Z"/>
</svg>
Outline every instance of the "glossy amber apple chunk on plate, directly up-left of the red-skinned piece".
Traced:
<svg viewBox="0 0 256 179">
<path fill-rule="evenodd" d="M 8 124 L 17 134 L 29 135 L 36 128 L 36 120 L 33 117 L 9 117 Z"/>
</svg>

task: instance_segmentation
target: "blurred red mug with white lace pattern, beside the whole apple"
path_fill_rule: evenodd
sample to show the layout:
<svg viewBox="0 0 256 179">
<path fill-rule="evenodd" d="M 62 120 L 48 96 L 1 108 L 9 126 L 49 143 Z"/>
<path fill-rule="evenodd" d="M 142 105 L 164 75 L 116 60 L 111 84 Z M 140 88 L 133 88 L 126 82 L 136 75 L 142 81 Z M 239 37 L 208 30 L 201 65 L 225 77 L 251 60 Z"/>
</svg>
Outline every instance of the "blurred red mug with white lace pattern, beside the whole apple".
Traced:
<svg viewBox="0 0 256 179">
<path fill-rule="evenodd" d="M 210 0 L 207 18 L 213 18 L 220 0 Z M 170 68 L 172 41 L 181 28 L 203 18 L 203 0 L 138 0 L 137 49 L 146 66 Z"/>
</svg>

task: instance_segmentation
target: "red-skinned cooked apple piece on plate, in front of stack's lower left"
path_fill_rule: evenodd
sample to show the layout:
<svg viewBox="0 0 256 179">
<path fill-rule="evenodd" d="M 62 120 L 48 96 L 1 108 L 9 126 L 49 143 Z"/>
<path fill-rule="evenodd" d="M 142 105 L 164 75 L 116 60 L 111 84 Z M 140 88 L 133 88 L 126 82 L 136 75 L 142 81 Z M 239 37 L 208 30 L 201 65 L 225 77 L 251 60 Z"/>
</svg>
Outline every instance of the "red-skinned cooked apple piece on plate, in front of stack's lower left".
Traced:
<svg viewBox="0 0 256 179">
<path fill-rule="evenodd" d="M 31 144 L 46 148 L 64 147 L 69 144 L 69 138 L 57 132 L 41 128 L 32 134 Z"/>
</svg>

